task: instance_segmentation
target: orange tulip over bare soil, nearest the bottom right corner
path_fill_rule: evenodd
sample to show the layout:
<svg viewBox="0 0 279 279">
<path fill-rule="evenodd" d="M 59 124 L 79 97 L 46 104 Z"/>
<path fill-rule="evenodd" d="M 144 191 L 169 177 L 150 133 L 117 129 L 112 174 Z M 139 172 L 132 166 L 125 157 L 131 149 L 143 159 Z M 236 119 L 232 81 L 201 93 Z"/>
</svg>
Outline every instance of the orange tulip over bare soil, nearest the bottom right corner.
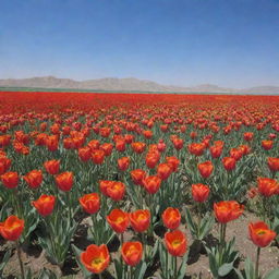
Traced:
<svg viewBox="0 0 279 279">
<path fill-rule="evenodd" d="M 266 247 L 276 238 L 276 232 L 269 230 L 263 221 L 251 222 L 248 225 L 250 238 L 253 243 L 259 247 Z"/>
</svg>

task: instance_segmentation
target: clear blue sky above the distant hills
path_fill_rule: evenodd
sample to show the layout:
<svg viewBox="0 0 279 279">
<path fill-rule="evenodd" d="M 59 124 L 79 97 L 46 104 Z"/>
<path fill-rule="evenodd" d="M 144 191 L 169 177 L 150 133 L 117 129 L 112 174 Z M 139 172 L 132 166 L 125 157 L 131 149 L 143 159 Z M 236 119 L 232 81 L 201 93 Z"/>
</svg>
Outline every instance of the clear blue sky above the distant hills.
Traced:
<svg viewBox="0 0 279 279">
<path fill-rule="evenodd" d="M 279 85 L 279 0 L 0 0 L 0 78 Z"/>
</svg>

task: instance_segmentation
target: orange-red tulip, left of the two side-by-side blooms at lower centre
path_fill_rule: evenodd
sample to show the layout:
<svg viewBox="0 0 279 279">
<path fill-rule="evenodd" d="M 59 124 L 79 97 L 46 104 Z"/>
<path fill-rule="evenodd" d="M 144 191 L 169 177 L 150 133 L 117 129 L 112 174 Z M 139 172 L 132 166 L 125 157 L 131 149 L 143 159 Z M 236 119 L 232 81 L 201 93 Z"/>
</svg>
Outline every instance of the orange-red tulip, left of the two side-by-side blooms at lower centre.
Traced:
<svg viewBox="0 0 279 279">
<path fill-rule="evenodd" d="M 123 233 L 129 226 L 129 214 L 121 209 L 113 209 L 107 216 L 107 221 L 116 232 Z"/>
</svg>

